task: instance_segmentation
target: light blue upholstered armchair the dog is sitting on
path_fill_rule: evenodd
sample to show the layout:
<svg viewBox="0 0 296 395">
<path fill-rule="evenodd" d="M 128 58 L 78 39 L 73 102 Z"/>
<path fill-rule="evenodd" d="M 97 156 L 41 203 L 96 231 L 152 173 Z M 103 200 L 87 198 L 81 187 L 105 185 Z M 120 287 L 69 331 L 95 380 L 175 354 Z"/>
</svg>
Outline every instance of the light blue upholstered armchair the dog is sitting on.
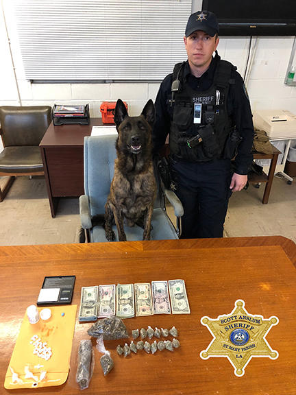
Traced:
<svg viewBox="0 0 296 395">
<path fill-rule="evenodd" d="M 114 173 L 114 160 L 116 158 L 115 149 L 116 135 L 90 136 L 84 138 L 84 192 L 85 195 L 79 197 L 80 217 L 82 228 L 86 230 L 87 241 L 101 242 L 107 241 L 103 226 L 92 225 L 92 217 L 103 216 L 105 204 L 110 192 L 110 184 Z M 157 176 L 157 175 L 156 175 Z M 159 178 L 157 177 L 159 181 Z M 171 223 L 164 205 L 164 193 L 171 204 L 173 204 L 176 217 L 182 217 L 183 207 L 175 193 L 160 187 L 158 182 L 158 197 L 154 204 L 152 215 L 151 239 L 177 239 L 178 232 Z M 118 241 L 116 226 L 113 226 Z M 143 229 L 134 226 L 125 226 L 125 234 L 128 241 L 142 240 Z"/>
</svg>

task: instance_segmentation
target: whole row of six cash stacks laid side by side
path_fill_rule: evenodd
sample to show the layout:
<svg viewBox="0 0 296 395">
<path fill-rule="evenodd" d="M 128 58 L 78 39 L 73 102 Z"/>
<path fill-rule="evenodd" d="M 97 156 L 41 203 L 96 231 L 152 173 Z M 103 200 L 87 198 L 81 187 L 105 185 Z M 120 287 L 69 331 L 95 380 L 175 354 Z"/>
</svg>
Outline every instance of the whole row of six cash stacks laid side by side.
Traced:
<svg viewBox="0 0 296 395">
<path fill-rule="evenodd" d="M 82 287 L 80 322 L 171 313 L 190 314 L 184 280 Z"/>
</svg>

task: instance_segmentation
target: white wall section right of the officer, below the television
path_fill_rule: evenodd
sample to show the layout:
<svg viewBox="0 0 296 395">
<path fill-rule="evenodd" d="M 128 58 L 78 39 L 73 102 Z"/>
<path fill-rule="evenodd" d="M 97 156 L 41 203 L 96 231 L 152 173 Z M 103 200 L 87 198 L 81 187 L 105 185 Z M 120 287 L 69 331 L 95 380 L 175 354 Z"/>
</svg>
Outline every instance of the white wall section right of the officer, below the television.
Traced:
<svg viewBox="0 0 296 395">
<path fill-rule="evenodd" d="M 252 110 L 280 108 L 296 114 L 296 87 L 284 84 L 294 37 L 258 37 L 247 91 Z M 245 72 L 249 37 L 221 38 L 219 53 Z"/>
</svg>

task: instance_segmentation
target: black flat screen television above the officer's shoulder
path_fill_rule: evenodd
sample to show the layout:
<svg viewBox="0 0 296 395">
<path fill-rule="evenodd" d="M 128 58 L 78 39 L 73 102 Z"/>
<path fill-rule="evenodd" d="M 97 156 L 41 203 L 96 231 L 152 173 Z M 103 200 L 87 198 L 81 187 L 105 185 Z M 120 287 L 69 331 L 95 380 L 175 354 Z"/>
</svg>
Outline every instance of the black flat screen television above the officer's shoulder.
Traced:
<svg viewBox="0 0 296 395">
<path fill-rule="evenodd" d="M 220 36 L 295 36 L 295 0 L 204 0 L 214 12 Z"/>
</svg>

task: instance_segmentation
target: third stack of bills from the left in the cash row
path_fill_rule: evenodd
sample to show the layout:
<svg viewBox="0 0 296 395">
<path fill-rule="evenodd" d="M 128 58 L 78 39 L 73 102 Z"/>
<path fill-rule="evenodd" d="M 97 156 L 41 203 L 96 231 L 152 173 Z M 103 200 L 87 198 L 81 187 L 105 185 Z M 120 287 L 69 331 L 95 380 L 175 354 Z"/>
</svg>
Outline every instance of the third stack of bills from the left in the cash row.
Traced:
<svg viewBox="0 0 296 395">
<path fill-rule="evenodd" d="M 116 286 L 116 315 L 119 318 L 134 317 L 134 284 Z"/>
</svg>

